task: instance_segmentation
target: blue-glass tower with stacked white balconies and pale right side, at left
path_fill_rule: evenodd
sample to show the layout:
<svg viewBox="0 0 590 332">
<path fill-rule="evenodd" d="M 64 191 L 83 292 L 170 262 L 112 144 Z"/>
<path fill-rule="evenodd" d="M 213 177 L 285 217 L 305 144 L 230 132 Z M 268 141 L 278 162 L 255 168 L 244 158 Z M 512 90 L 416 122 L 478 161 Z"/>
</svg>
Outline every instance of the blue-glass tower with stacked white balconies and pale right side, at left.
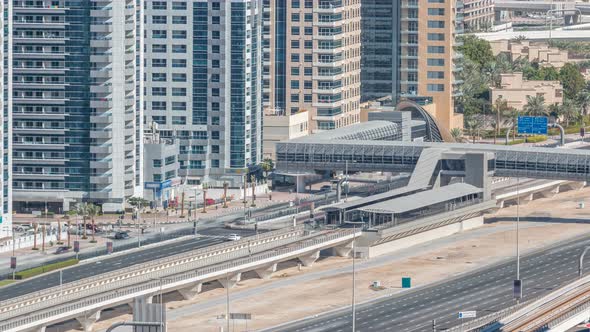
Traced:
<svg viewBox="0 0 590 332">
<path fill-rule="evenodd" d="M 136 0 L 14 0 L 10 104 L 19 211 L 137 191 Z"/>
</svg>

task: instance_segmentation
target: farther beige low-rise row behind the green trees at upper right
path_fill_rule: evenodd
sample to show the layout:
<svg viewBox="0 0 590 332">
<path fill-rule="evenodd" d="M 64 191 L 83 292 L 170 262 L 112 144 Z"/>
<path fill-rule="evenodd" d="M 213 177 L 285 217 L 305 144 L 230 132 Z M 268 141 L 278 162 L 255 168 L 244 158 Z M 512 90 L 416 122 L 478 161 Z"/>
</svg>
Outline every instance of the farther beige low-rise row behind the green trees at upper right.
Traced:
<svg viewBox="0 0 590 332">
<path fill-rule="evenodd" d="M 547 43 L 528 40 L 494 40 L 490 41 L 490 46 L 494 55 L 507 53 L 512 61 L 526 58 L 529 62 L 538 62 L 541 66 L 553 66 L 558 69 L 570 61 L 567 51 L 549 47 Z"/>
</svg>

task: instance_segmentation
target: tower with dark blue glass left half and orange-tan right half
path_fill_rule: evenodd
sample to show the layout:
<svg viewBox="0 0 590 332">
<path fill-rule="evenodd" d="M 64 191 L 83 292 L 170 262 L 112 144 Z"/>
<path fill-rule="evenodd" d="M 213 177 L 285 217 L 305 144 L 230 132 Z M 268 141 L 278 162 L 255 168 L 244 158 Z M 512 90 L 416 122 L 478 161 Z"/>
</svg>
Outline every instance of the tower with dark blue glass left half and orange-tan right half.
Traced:
<svg viewBox="0 0 590 332">
<path fill-rule="evenodd" d="M 392 95 L 434 103 L 433 116 L 450 130 L 456 113 L 463 1 L 363 0 L 363 100 Z"/>
</svg>

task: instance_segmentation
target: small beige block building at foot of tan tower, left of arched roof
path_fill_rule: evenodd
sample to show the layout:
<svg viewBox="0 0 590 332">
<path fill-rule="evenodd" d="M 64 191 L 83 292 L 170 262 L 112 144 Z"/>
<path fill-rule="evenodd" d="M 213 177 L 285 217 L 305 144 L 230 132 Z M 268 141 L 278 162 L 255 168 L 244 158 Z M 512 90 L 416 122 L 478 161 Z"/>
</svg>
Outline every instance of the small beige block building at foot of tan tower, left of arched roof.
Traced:
<svg viewBox="0 0 590 332">
<path fill-rule="evenodd" d="M 263 157 L 274 160 L 277 142 L 307 136 L 309 133 L 307 111 L 288 114 L 285 111 L 266 110 L 262 130 Z"/>
</svg>

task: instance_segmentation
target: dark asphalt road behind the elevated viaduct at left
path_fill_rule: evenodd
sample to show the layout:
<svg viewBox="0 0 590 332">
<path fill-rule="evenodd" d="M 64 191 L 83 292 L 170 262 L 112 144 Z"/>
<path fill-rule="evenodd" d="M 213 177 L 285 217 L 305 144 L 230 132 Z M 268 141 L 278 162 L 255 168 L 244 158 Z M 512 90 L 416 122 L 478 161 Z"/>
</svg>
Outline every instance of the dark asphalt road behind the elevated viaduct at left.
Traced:
<svg viewBox="0 0 590 332">
<path fill-rule="evenodd" d="M 199 234 L 201 235 L 221 235 L 223 233 L 240 233 L 242 236 L 246 236 L 251 235 L 253 232 L 240 232 L 236 230 L 224 230 L 217 228 L 199 230 Z M 66 284 L 69 282 L 78 281 L 80 279 L 93 277 L 101 273 L 107 273 L 128 266 L 142 264 L 190 250 L 211 246 L 223 241 L 225 240 L 222 237 L 199 237 L 146 248 L 127 254 L 113 256 L 111 258 L 105 256 L 103 259 L 97 260 L 93 263 L 73 266 L 64 270 L 62 274 L 62 283 Z M 0 292 L 0 301 L 5 301 L 16 296 L 37 292 L 45 288 L 59 286 L 59 279 L 59 272 L 51 272 L 31 280 L 25 280 L 14 285 L 7 286 L 2 288 L 2 291 Z"/>
</svg>

